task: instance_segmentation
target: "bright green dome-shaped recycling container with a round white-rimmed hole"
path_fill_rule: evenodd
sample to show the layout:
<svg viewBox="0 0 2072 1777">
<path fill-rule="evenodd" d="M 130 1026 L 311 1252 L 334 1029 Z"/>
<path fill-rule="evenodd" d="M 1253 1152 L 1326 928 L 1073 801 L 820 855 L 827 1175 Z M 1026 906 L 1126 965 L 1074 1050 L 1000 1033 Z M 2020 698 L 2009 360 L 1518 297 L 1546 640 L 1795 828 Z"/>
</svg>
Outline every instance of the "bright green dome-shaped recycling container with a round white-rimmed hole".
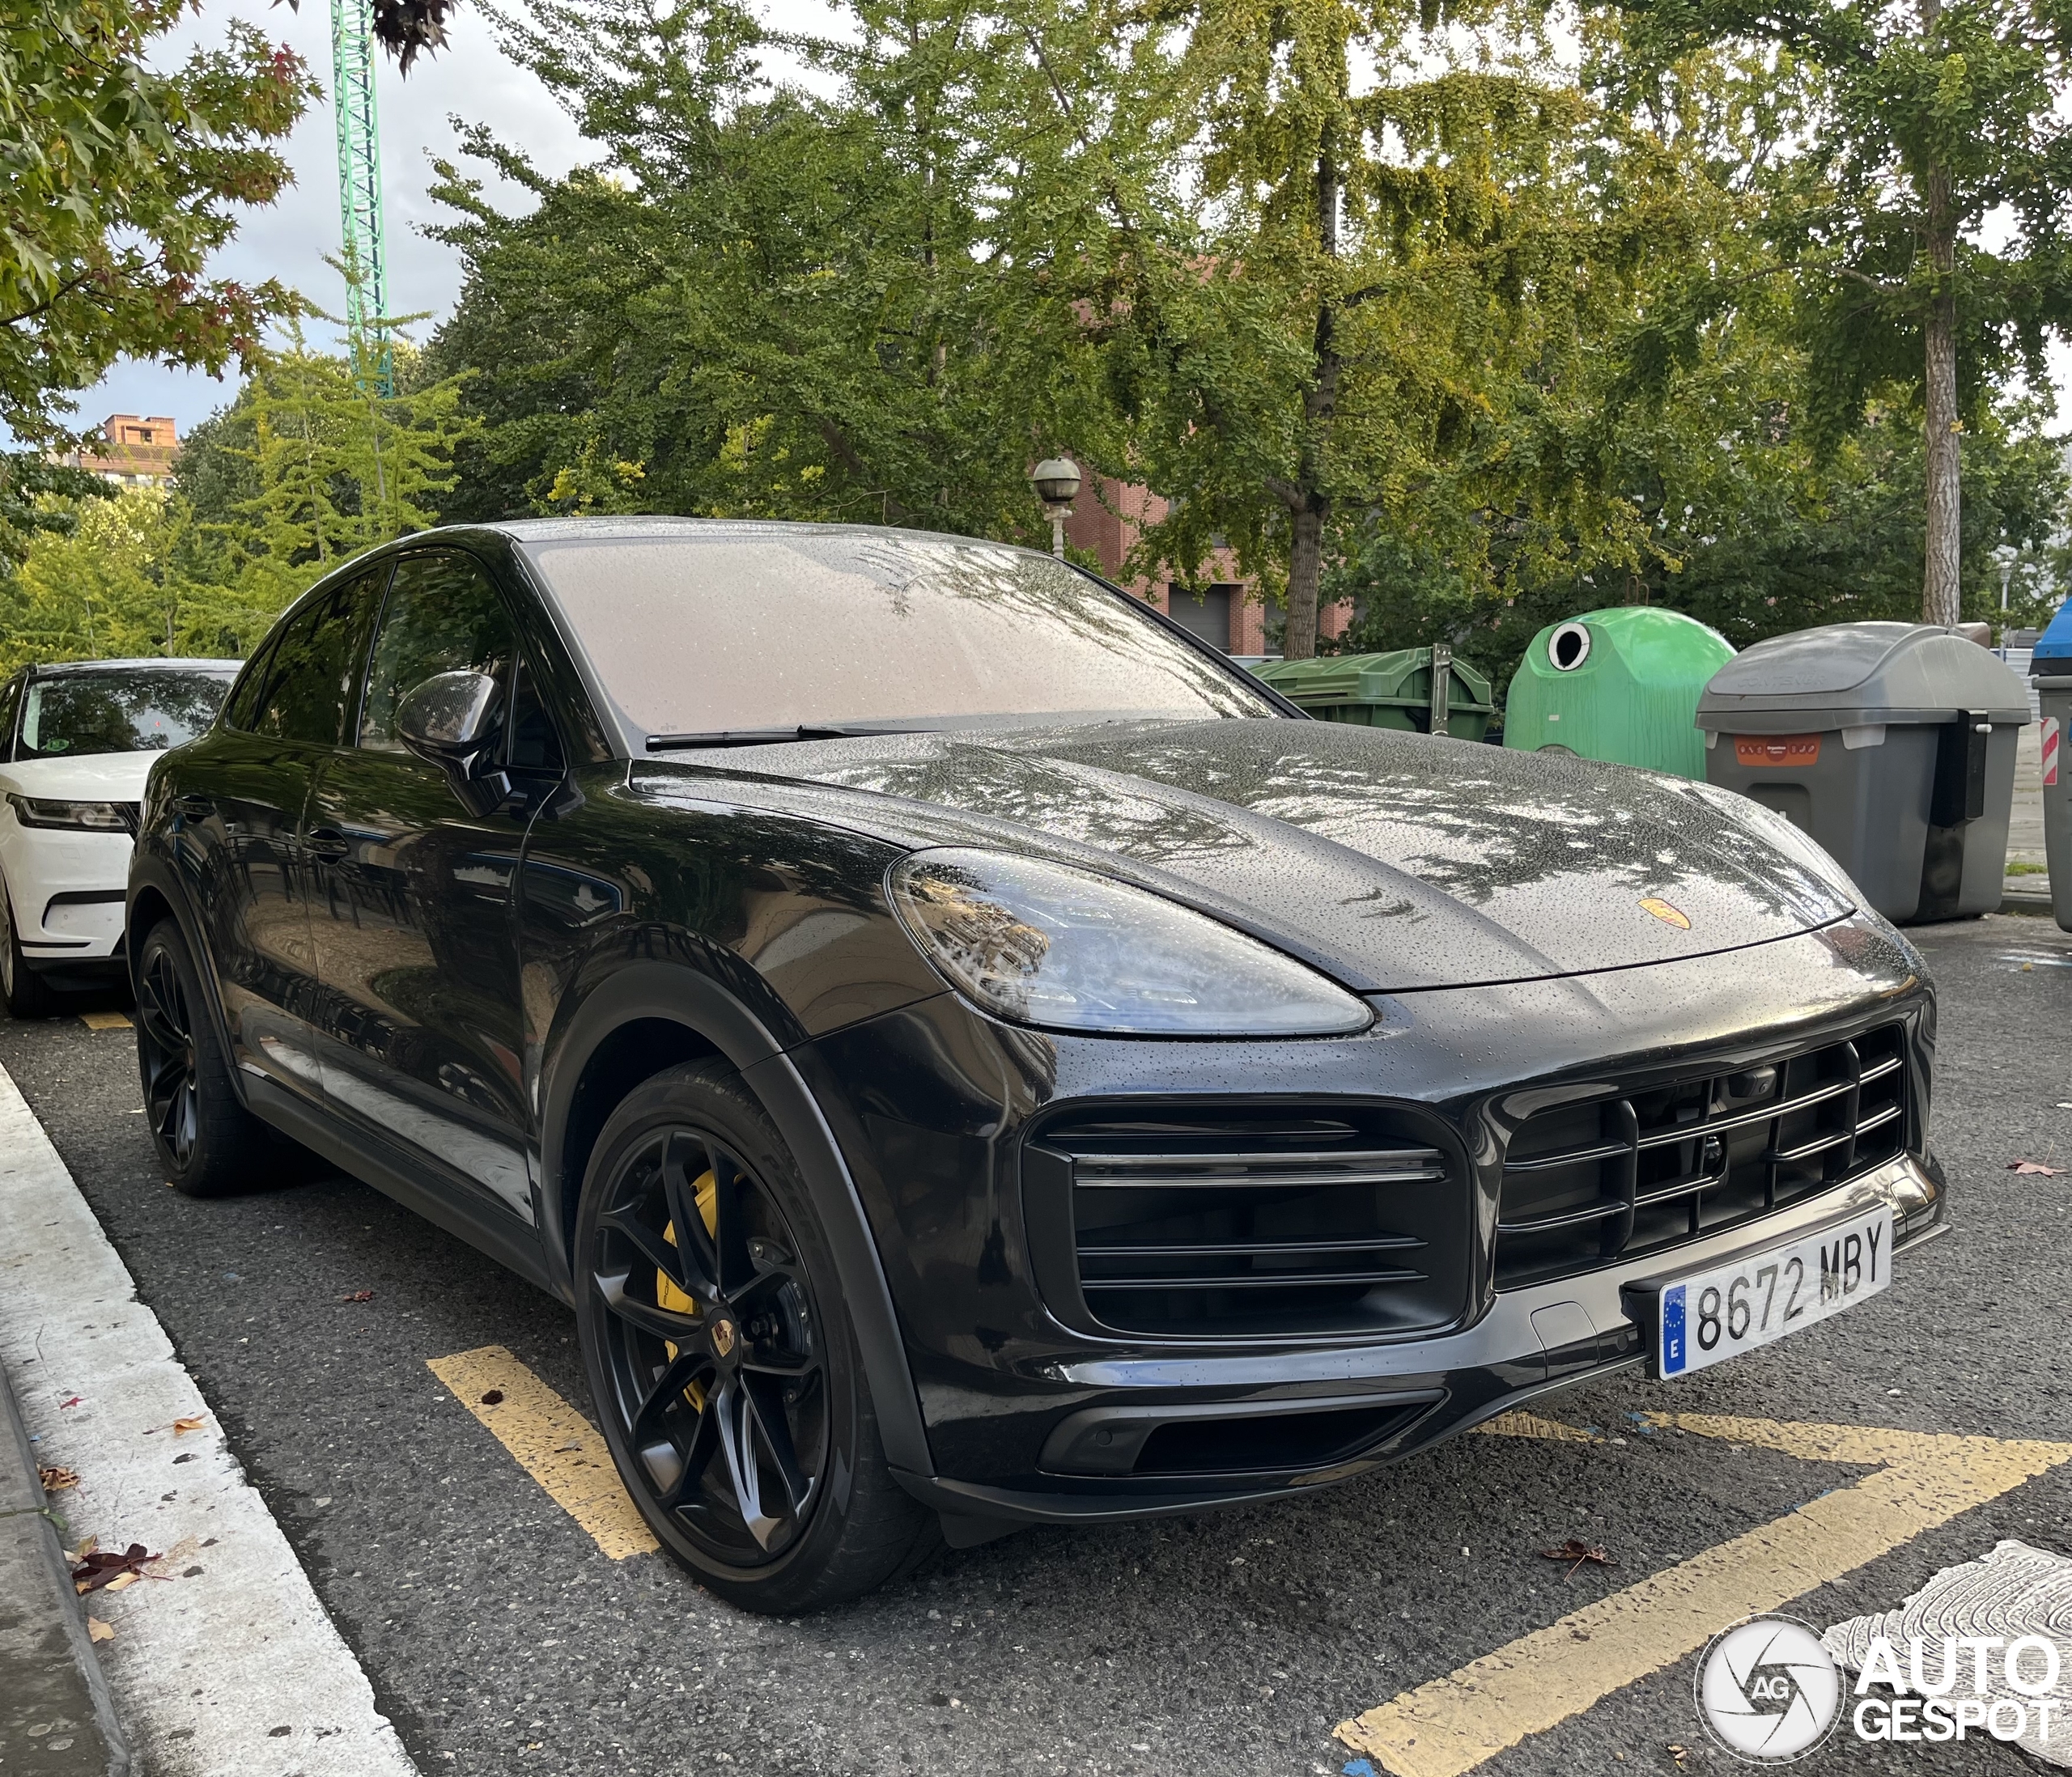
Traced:
<svg viewBox="0 0 2072 1777">
<path fill-rule="evenodd" d="M 1504 746 L 1703 779 L 1697 700 L 1732 659 L 1718 630 L 1653 605 L 1548 623 L 1510 679 Z"/>
</svg>

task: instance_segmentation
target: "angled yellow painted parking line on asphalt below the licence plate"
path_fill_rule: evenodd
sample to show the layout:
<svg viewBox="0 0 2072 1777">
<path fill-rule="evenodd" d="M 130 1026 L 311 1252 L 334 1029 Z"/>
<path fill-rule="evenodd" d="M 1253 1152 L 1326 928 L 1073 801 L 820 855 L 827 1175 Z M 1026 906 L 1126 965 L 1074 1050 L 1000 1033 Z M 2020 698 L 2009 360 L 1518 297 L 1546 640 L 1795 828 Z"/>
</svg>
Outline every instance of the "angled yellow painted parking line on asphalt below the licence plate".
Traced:
<svg viewBox="0 0 2072 1777">
<path fill-rule="evenodd" d="M 1948 1437 L 1861 1425 L 1792 1425 L 1703 1412 L 1651 1425 L 1778 1450 L 1807 1462 L 1881 1464 L 1850 1487 L 1571 1611 L 1496 1653 L 1339 1723 L 1339 1740 L 1392 1777 L 1461 1777 L 1531 1734 L 1674 1665 L 1740 1618 L 1875 1562 L 1923 1531 L 2072 1462 L 2072 1444 Z M 1510 1415 L 1500 1435 L 1539 1437 Z M 1560 1427 L 1562 1437 L 1587 1437 Z"/>
</svg>

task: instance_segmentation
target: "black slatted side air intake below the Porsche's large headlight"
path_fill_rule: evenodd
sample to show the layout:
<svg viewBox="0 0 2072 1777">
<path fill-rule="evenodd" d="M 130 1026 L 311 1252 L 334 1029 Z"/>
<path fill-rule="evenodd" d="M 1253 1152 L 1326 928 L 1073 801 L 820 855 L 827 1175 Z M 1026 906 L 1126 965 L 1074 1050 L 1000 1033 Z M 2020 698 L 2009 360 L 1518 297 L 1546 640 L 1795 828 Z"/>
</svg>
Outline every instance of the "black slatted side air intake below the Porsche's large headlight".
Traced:
<svg viewBox="0 0 2072 1777">
<path fill-rule="evenodd" d="M 1430 1133 L 1355 1108 L 1053 1127 L 1092 1321 L 1115 1332 L 1397 1332 L 1467 1294 L 1467 1189 Z"/>
</svg>

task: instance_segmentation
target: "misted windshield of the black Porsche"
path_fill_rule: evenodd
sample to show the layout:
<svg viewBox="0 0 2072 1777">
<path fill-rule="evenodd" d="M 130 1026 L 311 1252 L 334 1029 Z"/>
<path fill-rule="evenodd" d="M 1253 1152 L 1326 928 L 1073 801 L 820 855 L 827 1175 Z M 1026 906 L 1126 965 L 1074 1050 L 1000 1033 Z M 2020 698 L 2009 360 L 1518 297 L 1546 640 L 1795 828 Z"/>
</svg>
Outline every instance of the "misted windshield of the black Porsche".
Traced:
<svg viewBox="0 0 2072 1777">
<path fill-rule="evenodd" d="M 986 717 L 1272 717 L 1131 599 L 997 543 L 694 530 L 528 547 L 649 737 Z"/>
</svg>

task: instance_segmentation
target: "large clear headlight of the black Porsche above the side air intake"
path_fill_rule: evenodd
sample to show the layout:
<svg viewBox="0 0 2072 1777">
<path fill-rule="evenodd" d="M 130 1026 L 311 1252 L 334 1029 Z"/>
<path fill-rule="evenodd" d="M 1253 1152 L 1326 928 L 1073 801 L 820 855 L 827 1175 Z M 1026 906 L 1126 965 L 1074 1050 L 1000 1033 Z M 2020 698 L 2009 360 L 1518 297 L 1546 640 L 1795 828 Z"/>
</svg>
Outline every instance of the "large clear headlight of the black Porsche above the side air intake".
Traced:
<svg viewBox="0 0 2072 1777">
<path fill-rule="evenodd" d="M 1374 1021 L 1316 969 L 1146 888 L 1001 851 L 918 851 L 899 922 L 988 1013 L 1131 1036 L 1347 1036 Z"/>
</svg>

